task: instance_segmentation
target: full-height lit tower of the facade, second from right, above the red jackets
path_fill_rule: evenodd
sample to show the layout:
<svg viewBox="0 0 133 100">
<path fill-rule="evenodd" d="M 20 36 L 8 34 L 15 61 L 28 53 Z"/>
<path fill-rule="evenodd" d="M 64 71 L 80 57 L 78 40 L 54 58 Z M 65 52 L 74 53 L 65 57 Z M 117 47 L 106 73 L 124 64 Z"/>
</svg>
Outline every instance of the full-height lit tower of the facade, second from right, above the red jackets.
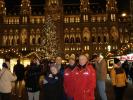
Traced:
<svg viewBox="0 0 133 100">
<path fill-rule="evenodd" d="M 84 48 L 85 45 L 88 46 L 90 41 L 90 25 L 91 25 L 91 15 L 92 11 L 90 9 L 90 1 L 89 0 L 80 0 L 80 13 L 81 13 L 81 48 Z M 84 52 L 84 50 L 82 51 Z"/>
</svg>

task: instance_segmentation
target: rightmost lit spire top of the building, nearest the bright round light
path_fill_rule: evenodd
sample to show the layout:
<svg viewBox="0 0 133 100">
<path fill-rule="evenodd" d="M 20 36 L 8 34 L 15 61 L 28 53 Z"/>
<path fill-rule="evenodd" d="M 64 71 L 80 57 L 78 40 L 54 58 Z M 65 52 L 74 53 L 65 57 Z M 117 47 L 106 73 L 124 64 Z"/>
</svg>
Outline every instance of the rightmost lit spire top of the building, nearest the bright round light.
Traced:
<svg viewBox="0 0 133 100">
<path fill-rule="evenodd" d="M 106 11 L 117 12 L 117 1 L 116 0 L 107 0 Z"/>
</svg>

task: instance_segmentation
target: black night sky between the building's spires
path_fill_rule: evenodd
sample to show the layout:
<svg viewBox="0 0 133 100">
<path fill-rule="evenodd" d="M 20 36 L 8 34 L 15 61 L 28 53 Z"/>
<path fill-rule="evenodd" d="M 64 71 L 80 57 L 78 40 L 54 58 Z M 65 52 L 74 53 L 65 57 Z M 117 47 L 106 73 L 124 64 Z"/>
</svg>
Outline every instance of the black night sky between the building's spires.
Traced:
<svg viewBox="0 0 133 100">
<path fill-rule="evenodd" d="M 6 7 L 7 10 L 15 9 L 17 6 L 21 4 L 21 0 L 5 0 L 6 1 Z M 45 0 L 30 0 L 31 5 L 43 5 Z M 98 3 L 99 6 L 103 9 L 105 9 L 106 1 L 107 0 L 90 0 L 92 3 Z M 72 4 L 72 3 L 80 3 L 80 0 L 63 0 L 65 4 Z M 120 11 L 129 10 L 129 2 L 130 0 L 117 0 L 118 2 L 118 8 Z"/>
</svg>

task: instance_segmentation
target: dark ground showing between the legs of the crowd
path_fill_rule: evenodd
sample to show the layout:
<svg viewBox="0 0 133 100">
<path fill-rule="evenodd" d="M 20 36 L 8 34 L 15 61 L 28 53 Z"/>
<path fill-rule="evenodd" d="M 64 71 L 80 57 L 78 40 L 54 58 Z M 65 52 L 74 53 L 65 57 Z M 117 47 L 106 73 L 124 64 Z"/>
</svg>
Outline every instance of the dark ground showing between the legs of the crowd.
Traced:
<svg viewBox="0 0 133 100">
<path fill-rule="evenodd" d="M 106 92 L 107 92 L 108 100 L 114 100 L 113 88 L 109 81 L 106 83 L 106 89 L 107 89 Z M 11 100 L 27 100 L 27 93 L 24 90 L 22 98 L 18 98 L 17 96 L 12 95 Z M 41 90 L 40 100 L 43 100 L 43 90 Z M 96 93 L 96 100 L 100 100 L 97 93 Z M 124 100 L 133 100 L 133 85 L 128 85 Z"/>
</svg>

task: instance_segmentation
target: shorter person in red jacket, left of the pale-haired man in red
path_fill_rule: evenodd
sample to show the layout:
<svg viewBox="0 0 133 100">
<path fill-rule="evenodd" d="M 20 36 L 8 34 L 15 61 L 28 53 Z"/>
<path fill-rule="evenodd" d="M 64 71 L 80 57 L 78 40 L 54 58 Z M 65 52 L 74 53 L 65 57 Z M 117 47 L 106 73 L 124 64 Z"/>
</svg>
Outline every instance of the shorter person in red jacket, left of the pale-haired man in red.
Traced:
<svg viewBox="0 0 133 100">
<path fill-rule="evenodd" d="M 69 65 L 64 72 L 64 90 L 67 100 L 73 100 L 73 69 L 75 68 L 75 66 L 75 59 L 71 57 L 69 59 Z"/>
</svg>

